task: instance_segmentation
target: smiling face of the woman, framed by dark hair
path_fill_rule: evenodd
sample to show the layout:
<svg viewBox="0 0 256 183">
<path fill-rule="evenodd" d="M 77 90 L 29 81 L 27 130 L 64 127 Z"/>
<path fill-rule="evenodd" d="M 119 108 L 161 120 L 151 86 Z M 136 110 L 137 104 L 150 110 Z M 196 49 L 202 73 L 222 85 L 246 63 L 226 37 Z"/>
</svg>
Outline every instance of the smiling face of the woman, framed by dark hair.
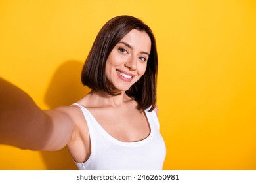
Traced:
<svg viewBox="0 0 256 183">
<path fill-rule="evenodd" d="M 137 29 L 116 44 L 106 61 L 106 78 L 114 92 L 128 90 L 144 75 L 150 49 L 150 37 Z"/>
</svg>

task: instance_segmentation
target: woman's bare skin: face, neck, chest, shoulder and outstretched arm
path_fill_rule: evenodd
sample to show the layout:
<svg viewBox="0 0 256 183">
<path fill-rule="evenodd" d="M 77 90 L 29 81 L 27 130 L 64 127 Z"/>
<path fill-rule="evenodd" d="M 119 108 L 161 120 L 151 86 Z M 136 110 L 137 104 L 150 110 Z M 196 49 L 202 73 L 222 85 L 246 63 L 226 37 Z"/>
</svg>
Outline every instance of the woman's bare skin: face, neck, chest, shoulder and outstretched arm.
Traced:
<svg viewBox="0 0 256 183">
<path fill-rule="evenodd" d="M 150 48 L 150 37 L 145 32 L 137 29 L 130 31 L 117 43 L 106 61 L 108 82 L 121 95 L 91 91 L 77 102 L 86 107 L 112 137 L 122 142 L 141 141 L 150 134 L 144 112 L 137 110 L 137 102 L 125 94 L 144 75 Z M 125 73 L 127 78 L 121 76 L 119 71 Z M 60 150 L 68 146 L 76 162 L 87 161 L 91 154 L 91 142 L 79 107 L 40 110 L 26 93 L 15 86 L 4 80 L 0 80 L 0 85 L 7 88 L 5 92 L 0 92 L 6 96 L 0 98 L 2 106 L 5 106 L 0 107 L 0 143 L 32 150 Z M 10 117 L 8 111 L 15 109 L 9 102 L 13 100 L 13 93 L 16 95 L 15 106 L 22 110 L 17 109 L 17 115 Z M 157 108 L 155 111 L 158 112 Z"/>
</svg>

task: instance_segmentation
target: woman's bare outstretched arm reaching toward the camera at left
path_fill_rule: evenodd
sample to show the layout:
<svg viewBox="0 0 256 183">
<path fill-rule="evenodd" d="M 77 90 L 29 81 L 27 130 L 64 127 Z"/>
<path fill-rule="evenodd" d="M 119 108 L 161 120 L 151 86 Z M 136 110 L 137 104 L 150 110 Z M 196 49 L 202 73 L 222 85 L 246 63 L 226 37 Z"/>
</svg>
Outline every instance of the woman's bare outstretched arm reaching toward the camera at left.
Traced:
<svg viewBox="0 0 256 183">
<path fill-rule="evenodd" d="M 30 150 L 59 150 L 72 138 L 65 107 L 41 110 L 25 92 L 0 78 L 0 144 Z"/>
</svg>

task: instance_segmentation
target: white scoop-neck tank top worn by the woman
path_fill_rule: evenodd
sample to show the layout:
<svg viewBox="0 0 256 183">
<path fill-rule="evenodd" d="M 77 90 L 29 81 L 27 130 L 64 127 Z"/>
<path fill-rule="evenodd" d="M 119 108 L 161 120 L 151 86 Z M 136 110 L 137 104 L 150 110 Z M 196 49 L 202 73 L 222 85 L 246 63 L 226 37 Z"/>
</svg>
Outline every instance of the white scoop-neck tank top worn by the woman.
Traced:
<svg viewBox="0 0 256 183">
<path fill-rule="evenodd" d="M 150 124 L 150 135 L 137 142 L 122 142 L 108 134 L 87 108 L 81 108 L 89 128 L 91 155 L 84 163 L 77 163 L 79 169 L 123 170 L 123 169 L 163 169 L 166 148 L 159 131 L 156 113 L 145 110 Z"/>
</svg>

